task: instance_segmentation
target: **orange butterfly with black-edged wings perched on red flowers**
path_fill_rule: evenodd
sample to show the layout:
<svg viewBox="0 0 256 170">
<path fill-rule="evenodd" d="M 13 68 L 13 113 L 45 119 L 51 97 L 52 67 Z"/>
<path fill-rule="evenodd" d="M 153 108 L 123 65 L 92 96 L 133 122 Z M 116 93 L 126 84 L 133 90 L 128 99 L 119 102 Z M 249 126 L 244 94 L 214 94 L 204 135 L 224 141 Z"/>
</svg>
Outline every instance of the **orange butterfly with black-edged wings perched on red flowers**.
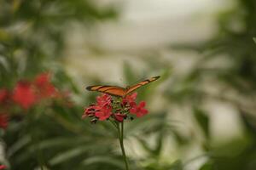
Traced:
<svg viewBox="0 0 256 170">
<path fill-rule="evenodd" d="M 132 86 L 127 86 L 126 88 L 120 88 L 118 86 L 96 85 L 96 86 L 88 86 L 86 89 L 89 90 L 89 91 L 102 92 L 104 94 L 110 94 L 110 95 L 113 95 L 113 96 L 118 96 L 118 97 L 125 98 L 125 96 L 127 94 L 131 94 L 137 88 L 141 88 L 142 86 L 148 84 L 149 82 L 154 82 L 159 78 L 160 78 L 160 76 L 151 77 L 151 78 L 148 78 L 147 80 L 143 80 L 142 82 L 138 82 L 137 84 L 134 84 Z"/>
</svg>

